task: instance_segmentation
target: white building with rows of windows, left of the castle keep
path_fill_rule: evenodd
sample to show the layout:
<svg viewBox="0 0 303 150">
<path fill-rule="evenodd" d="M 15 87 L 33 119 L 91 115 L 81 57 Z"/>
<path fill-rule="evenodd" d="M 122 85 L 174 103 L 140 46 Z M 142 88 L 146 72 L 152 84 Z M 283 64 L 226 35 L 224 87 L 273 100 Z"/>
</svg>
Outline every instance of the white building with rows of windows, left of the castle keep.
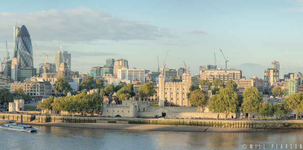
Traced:
<svg viewBox="0 0 303 150">
<path fill-rule="evenodd" d="M 117 81 L 122 80 L 141 80 L 145 82 L 145 71 L 144 69 L 118 69 L 117 70 Z"/>
</svg>

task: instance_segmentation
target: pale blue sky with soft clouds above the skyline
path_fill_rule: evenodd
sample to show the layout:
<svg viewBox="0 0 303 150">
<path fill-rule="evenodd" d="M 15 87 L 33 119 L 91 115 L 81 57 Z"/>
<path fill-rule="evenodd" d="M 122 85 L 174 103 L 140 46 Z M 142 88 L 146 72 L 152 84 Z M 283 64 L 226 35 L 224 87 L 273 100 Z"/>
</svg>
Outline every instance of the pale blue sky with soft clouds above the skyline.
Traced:
<svg viewBox="0 0 303 150">
<path fill-rule="evenodd" d="M 214 54 L 217 68 L 225 68 L 220 49 L 227 67 L 246 78 L 263 79 L 271 62 L 282 65 L 283 58 L 283 74 L 303 72 L 303 0 L 15 0 L 1 2 L 0 10 L 2 60 L 5 41 L 13 55 L 17 24 L 28 29 L 34 57 L 42 62 L 37 45 L 54 62 L 60 43 L 71 54 L 71 69 L 79 72 L 103 66 L 107 58 L 157 71 L 157 57 L 161 68 L 169 50 L 166 67 L 177 70 L 185 61 L 194 75 L 199 66 L 215 64 Z"/>
</svg>

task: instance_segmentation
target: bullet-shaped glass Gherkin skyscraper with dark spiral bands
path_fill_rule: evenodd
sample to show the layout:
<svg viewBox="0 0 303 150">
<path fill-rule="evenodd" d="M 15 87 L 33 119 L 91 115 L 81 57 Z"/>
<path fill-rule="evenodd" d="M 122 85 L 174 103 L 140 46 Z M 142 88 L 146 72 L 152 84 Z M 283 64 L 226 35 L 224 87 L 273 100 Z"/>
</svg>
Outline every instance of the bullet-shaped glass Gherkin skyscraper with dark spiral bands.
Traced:
<svg viewBox="0 0 303 150">
<path fill-rule="evenodd" d="M 33 58 L 30 56 L 32 54 L 32 39 L 27 28 L 23 25 L 18 32 L 14 49 L 14 57 L 18 60 L 18 67 L 33 67 Z"/>
</svg>

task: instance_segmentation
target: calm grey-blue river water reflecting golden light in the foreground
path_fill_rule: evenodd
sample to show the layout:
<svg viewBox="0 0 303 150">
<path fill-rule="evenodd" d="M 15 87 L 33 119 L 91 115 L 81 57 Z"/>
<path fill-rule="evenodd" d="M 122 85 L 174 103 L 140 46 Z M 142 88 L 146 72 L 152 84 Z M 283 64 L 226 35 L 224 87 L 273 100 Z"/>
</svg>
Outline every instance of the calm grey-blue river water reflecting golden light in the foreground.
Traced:
<svg viewBox="0 0 303 150">
<path fill-rule="evenodd" d="M 301 130 L 197 133 L 36 127 L 39 130 L 32 133 L 0 129 L 0 149 L 295 149 L 295 144 L 300 149 L 303 144 Z"/>
</svg>

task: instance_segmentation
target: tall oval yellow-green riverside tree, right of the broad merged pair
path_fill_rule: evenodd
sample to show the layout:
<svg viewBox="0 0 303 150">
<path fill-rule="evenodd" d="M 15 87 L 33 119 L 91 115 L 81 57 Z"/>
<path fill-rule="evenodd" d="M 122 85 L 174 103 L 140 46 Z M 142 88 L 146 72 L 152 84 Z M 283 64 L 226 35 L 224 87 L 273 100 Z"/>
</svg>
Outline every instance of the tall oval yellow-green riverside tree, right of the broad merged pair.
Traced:
<svg viewBox="0 0 303 150">
<path fill-rule="evenodd" d="M 249 87 L 245 88 L 242 96 L 242 111 L 248 113 L 248 119 L 250 120 L 250 114 L 258 112 L 258 108 L 261 104 L 261 94 L 258 92 L 257 88 Z"/>
</svg>

